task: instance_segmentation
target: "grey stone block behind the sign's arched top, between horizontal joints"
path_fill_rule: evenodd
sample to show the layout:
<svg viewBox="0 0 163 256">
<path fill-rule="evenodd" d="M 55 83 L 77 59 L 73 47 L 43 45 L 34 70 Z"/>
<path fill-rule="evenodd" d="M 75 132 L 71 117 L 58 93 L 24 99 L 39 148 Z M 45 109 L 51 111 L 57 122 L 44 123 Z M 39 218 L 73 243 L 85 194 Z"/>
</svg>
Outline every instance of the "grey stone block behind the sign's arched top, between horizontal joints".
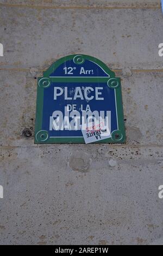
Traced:
<svg viewBox="0 0 163 256">
<path fill-rule="evenodd" d="M 3 68 L 43 69 L 76 52 L 100 58 L 114 69 L 162 68 L 161 9 L 1 7 L 0 23 Z"/>
</svg>

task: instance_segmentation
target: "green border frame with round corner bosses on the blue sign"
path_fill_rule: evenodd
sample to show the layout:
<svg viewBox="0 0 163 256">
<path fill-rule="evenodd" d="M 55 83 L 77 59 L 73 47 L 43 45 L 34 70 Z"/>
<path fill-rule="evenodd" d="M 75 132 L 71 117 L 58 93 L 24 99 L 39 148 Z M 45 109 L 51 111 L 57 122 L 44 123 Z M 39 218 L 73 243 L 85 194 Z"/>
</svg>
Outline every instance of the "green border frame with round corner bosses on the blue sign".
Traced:
<svg viewBox="0 0 163 256">
<path fill-rule="evenodd" d="M 72 60 L 76 64 L 83 64 L 85 59 L 95 62 L 100 66 L 110 77 L 100 78 L 100 77 L 90 77 L 90 78 L 75 78 L 75 77 L 63 77 L 63 78 L 51 78 L 50 75 L 57 69 L 60 64 Z M 48 132 L 42 130 L 42 110 L 43 110 L 43 91 L 51 86 L 52 82 L 106 82 L 112 90 L 115 90 L 116 94 L 116 109 L 117 109 L 117 122 L 118 130 L 114 130 L 111 133 L 111 138 L 104 139 L 101 141 L 93 142 L 97 144 L 103 143 L 126 143 L 126 132 L 124 127 L 124 117 L 123 117 L 123 106 L 122 106 L 122 91 L 121 91 L 121 79 L 115 77 L 115 73 L 112 72 L 102 61 L 95 57 L 88 55 L 68 55 L 66 57 L 60 58 L 58 61 L 54 62 L 51 67 L 49 67 L 45 72 L 43 72 L 43 77 L 37 79 L 37 99 L 36 99 L 36 119 L 35 119 L 35 144 L 54 144 L 54 143 L 85 143 L 84 138 L 49 138 Z"/>
</svg>

